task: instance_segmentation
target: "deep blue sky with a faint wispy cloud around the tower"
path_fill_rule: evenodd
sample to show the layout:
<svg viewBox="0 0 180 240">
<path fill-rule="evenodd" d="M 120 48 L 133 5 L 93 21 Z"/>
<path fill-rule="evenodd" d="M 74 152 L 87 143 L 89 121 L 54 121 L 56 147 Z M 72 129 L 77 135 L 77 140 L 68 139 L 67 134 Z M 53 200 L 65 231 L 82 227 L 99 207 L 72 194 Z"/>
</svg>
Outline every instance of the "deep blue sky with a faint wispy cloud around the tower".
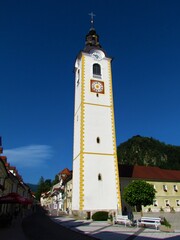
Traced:
<svg viewBox="0 0 180 240">
<path fill-rule="evenodd" d="M 179 0 L 1 0 L 0 135 L 25 182 L 72 169 L 73 68 L 91 11 L 113 57 L 117 145 L 179 145 Z"/>
</svg>

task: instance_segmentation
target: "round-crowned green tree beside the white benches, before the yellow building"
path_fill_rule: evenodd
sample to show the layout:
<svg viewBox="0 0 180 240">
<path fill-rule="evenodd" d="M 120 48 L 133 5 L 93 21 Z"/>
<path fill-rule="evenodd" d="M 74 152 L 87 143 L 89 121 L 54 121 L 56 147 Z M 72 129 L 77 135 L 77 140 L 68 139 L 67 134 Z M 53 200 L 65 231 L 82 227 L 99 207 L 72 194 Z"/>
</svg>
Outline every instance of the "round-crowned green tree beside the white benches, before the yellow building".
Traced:
<svg viewBox="0 0 180 240">
<path fill-rule="evenodd" d="M 156 190 L 144 180 L 134 180 L 124 188 L 123 198 L 131 206 L 140 207 L 153 204 Z M 141 209 L 142 215 L 142 209 Z"/>
</svg>

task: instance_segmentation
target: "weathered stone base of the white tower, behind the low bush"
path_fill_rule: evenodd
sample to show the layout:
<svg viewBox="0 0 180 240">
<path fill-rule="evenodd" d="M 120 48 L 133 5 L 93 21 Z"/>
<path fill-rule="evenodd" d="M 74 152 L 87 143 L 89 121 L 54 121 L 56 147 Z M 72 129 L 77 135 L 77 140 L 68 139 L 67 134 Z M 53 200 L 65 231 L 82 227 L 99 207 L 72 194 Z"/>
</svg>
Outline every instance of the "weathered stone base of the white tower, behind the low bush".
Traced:
<svg viewBox="0 0 180 240">
<path fill-rule="evenodd" d="M 122 214 L 122 211 L 119 209 L 97 209 L 97 210 L 72 210 L 72 215 L 78 219 L 92 219 L 92 215 L 96 212 L 105 211 L 109 215 L 115 216 L 117 214 Z"/>
</svg>

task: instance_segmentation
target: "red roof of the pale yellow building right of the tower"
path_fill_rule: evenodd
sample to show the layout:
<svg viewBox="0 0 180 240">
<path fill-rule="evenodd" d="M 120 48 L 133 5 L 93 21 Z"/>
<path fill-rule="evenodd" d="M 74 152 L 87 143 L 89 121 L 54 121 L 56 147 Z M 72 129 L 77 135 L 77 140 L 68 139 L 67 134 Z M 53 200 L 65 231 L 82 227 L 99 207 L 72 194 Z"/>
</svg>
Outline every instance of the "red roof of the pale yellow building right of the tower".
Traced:
<svg viewBox="0 0 180 240">
<path fill-rule="evenodd" d="M 128 166 L 119 164 L 119 176 L 144 180 L 180 181 L 180 171 L 150 166 Z"/>
</svg>

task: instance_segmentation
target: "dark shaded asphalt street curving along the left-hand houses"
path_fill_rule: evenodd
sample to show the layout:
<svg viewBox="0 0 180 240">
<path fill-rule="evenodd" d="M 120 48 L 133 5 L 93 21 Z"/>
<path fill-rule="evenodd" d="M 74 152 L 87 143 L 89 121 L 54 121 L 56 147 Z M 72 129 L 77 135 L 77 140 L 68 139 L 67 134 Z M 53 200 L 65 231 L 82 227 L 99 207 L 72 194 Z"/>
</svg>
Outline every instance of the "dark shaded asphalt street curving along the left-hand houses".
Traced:
<svg viewBox="0 0 180 240">
<path fill-rule="evenodd" d="M 52 217 L 52 216 L 51 216 Z M 72 231 L 50 219 L 45 210 L 36 211 L 24 218 L 14 218 L 12 224 L 0 228 L 1 240 L 93 240 L 95 238 Z"/>
</svg>

